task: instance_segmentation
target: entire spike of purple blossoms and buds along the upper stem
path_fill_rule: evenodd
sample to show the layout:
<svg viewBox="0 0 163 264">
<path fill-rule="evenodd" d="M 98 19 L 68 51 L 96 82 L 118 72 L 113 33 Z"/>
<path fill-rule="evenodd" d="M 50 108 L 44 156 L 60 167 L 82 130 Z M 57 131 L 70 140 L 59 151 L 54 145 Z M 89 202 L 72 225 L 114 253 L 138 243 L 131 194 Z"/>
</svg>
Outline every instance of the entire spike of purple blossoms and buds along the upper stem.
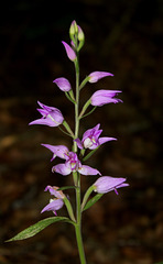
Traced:
<svg viewBox="0 0 163 264">
<path fill-rule="evenodd" d="M 75 64 L 76 73 L 78 74 L 78 52 L 84 45 L 85 36 L 84 32 L 80 29 L 79 25 L 77 25 L 76 21 L 73 21 L 70 29 L 69 29 L 69 36 L 70 36 L 70 45 L 66 42 L 62 42 L 67 57 Z M 53 80 L 53 82 L 65 92 L 67 98 L 75 105 L 75 111 L 76 111 L 76 130 L 75 132 L 72 132 L 72 129 L 65 121 L 61 110 L 54 107 L 48 107 L 46 105 L 43 105 L 39 101 L 39 106 L 41 109 L 37 109 L 37 111 L 41 113 L 42 118 L 36 119 L 30 123 L 31 124 L 44 124 L 48 127 L 59 127 L 64 125 L 66 129 L 66 133 L 73 138 L 73 148 L 72 151 L 68 150 L 65 145 L 51 145 L 51 144 L 42 144 L 46 148 L 48 148 L 53 156 L 51 158 L 51 162 L 55 160 L 55 157 L 59 157 L 64 160 L 64 163 L 56 164 L 52 167 L 53 173 L 58 173 L 63 176 L 73 174 L 74 177 L 74 184 L 75 187 L 80 188 L 79 183 L 79 175 L 99 175 L 100 177 L 95 182 L 95 184 L 91 186 L 89 190 L 94 190 L 98 194 L 106 194 L 111 190 L 115 190 L 116 194 L 118 194 L 117 189 L 121 187 L 128 186 L 126 183 L 126 178 L 115 178 L 110 176 L 101 176 L 100 172 L 96 168 L 93 168 L 88 165 L 83 164 L 85 158 L 85 151 L 95 152 L 100 145 L 104 143 L 107 143 L 109 141 L 117 141 L 116 138 L 109 138 L 109 136 L 101 136 L 102 130 L 100 129 L 100 124 L 96 124 L 94 128 L 88 129 L 84 134 L 82 140 L 78 136 L 79 131 L 79 120 L 84 118 L 84 113 L 87 111 L 88 107 L 101 107 L 104 105 L 108 103 L 118 103 L 122 102 L 121 99 L 116 98 L 117 95 L 119 95 L 120 90 L 108 90 L 108 89 L 100 89 L 95 92 L 93 92 L 91 97 L 86 101 L 86 103 L 83 107 L 83 110 L 78 114 L 78 101 L 79 101 L 79 91 L 85 87 L 87 82 L 94 84 L 100 80 L 101 78 L 113 76 L 111 73 L 108 72 L 93 72 L 90 73 L 80 84 L 76 87 L 76 95 L 74 95 L 74 90 L 72 88 L 72 85 L 68 79 L 65 77 L 58 77 Z M 77 110 L 76 110 L 77 109 Z M 89 114 L 89 113 L 88 113 Z M 63 194 L 63 191 L 54 186 L 47 186 L 45 188 L 45 191 L 50 191 L 52 196 L 54 196 L 53 199 L 50 200 L 50 204 L 45 206 L 42 210 L 50 211 L 52 210 L 55 215 L 58 209 L 61 209 L 64 204 L 69 205 L 66 196 Z M 90 194 L 89 194 L 90 195 Z M 86 196 L 88 196 L 86 191 Z M 67 210 L 69 206 L 67 206 Z M 70 209 L 72 210 L 72 209 Z M 74 217 L 73 217 L 74 219 Z"/>
</svg>

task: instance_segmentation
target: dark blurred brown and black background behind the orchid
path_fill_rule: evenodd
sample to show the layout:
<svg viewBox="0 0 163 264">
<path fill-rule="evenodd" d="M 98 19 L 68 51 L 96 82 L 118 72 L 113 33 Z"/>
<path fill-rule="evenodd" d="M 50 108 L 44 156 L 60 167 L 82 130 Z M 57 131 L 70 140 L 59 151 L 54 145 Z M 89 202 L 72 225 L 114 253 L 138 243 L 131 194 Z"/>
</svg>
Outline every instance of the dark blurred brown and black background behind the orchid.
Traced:
<svg viewBox="0 0 163 264">
<path fill-rule="evenodd" d="M 33 239 L 4 243 L 52 216 L 40 215 L 46 185 L 70 185 L 70 176 L 51 173 L 51 153 L 41 143 L 70 145 L 59 130 L 28 127 L 36 100 L 62 110 L 73 127 L 70 102 L 52 82 L 74 67 L 61 41 L 69 42 L 73 20 L 85 32 L 80 78 L 94 70 L 115 74 L 88 85 L 120 89 L 123 103 L 98 108 L 82 131 L 98 122 L 105 144 L 89 165 L 102 175 L 127 177 L 130 187 L 107 194 L 83 218 L 89 264 L 153 264 L 163 261 L 162 167 L 162 0 L 4 1 L 0 11 L 0 263 L 79 263 L 73 228 L 56 223 Z M 57 161 L 59 162 L 59 161 Z M 84 190 L 97 177 L 83 177 Z M 74 191 L 67 191 L 72 197 Z M 73 200 L 73 198 L 72 198 Z M 59 215 L 66 215 L 64 209 Z"/>
</svg>

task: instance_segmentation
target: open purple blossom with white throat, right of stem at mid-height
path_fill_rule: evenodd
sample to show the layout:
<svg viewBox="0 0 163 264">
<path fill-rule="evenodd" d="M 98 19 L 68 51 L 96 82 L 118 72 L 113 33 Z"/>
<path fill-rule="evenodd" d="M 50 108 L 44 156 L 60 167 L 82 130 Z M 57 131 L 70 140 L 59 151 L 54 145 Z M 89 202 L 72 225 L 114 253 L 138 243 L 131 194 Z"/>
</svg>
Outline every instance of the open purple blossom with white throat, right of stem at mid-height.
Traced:
<svg viewBox="0 0 163 264">
<path fill-rule="evenodd" d="M 115 138 L 99 138 L 102 130 L 99 130 L 100 124 L 97 124 L 93 129 L 87 130 L 84 135 L 82 141 L 79 139 L 76 139 L 77 146 L 82 148 L 89 148 L 89 150 L 95 150 L 97 146 L 108 142 L 108 141 L 113 141 L 117 140 Z"/>
</svg>

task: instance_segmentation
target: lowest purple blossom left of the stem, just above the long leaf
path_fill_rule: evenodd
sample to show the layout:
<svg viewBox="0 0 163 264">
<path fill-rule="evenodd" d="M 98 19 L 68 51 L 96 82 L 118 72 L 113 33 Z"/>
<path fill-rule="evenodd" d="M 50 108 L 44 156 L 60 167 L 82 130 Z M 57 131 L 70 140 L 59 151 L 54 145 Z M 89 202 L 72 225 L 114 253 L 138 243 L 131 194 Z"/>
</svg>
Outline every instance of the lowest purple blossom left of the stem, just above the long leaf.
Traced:
<svg viewBox="0 0 163 264">
<path fill-rule="evenodd" d="M 65 198 L 65 195 L 63 194 L 62 190 L 57 190 L 58 187 L 56 186 L 46 186 L 45 188 L 45 191 L 50 191 L 51 195 L 53 195 L 55 198 L 53 199 L 50 199 L 50 204 L 47 206 L 45 206 L 43 208 L 43 210 L 41 211 L 44 212 L 44 211 L 53 211 L 54 215 L 56 216 L 56 211 L 59 210 L 63 206 L 64 206 L 64 201 L 63 199 Z"/>
</svg>

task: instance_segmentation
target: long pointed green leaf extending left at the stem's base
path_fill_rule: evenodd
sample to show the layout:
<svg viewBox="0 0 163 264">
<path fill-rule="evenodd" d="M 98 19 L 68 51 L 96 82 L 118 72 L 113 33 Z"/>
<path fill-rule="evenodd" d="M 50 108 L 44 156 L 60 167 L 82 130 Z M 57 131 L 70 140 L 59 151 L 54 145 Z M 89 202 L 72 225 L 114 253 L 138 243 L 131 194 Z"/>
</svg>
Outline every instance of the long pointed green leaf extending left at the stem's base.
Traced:
<svg viewBox="0 0 163 264">
<path fill-rule="evenodd" d="M 22 232 L 18 233 L 15 237 L 13 237 L 12 239 L 8 240 L 7 242 L 17 241 L 17 240 L 24 240 L 24 239 L 32 238 L 33 235 L 35 235 L 36 233 L 40 233 L 43 229 L 45 229 L 50 224 L 52 224 L 54 222 L 58 222 L 58 221 L 69 222 L 69 223 L 74 224 L 74 222 L 70 221 L 66 217 L 51 217 L 51 218 L 46 218 L 46 219 L 43 219 L 43 220 L 39 221 L 37 223 L 29 227 L 28 229 L 23 230 Z"/>
</svg>

